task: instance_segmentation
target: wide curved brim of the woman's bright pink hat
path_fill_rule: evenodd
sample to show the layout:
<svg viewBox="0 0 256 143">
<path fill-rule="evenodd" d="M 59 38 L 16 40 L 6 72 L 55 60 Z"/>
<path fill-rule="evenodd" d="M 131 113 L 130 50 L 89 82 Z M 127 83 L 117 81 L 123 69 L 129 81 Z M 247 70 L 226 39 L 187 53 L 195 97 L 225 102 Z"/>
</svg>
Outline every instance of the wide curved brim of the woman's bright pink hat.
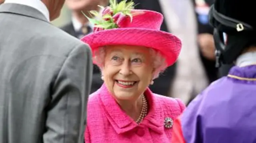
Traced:
<svg viewBox="0 0 256 143">
<path fill-rule="evenodd" d="M 144 46 L 160 51 L 166 58 L 167 66 L 173 65 L 180 54 L 181 41 L 171 33 L 143 28 L 106 29 L 88 34 L 81 39 L 90 45 L 92 53 L 106 45 Z"/>
</svg>

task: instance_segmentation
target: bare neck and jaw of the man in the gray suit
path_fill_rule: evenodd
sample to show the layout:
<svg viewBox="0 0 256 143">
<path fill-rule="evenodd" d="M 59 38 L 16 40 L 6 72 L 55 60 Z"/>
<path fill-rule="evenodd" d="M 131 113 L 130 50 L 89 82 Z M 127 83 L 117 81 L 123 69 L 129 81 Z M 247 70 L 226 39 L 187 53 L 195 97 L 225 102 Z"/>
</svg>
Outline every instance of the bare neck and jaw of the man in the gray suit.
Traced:
<svg viewBox="0 0 256 143">
<path fill-rule="evenodd" d="M 42 0 L 42 2 L 48 8 L 50 21 L 52 21 L 60 16 L 60 12 L 65 3 L 65 0 Z"/>
</svg>

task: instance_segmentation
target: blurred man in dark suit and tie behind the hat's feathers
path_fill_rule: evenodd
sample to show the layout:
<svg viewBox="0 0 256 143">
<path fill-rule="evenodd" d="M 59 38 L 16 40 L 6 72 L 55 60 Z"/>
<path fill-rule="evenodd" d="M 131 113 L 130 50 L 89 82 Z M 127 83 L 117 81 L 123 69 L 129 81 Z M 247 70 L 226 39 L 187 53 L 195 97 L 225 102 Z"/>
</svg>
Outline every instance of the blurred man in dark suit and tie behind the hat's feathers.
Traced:
<svg viewBox="0 0 256 143">
<path fill-rule="evenodd" d="M 72 12 L 72 20 L 70 23 L 61 27 L 61 29 L 78 39 L 82 38 L 84 35 L 91 33 L 93 29 L 93 24 L 88 21 L 82 12 L 88 17 L 91 17 L 92 14 L 88 13 L 90 10 L 98 11 L 100 10 L 98 5 L 107 6 L 108 3 L 109 0 L 66 0 L 66 6 Z M 100 76 L 100 69 L 94 65 L 91 93 L 98 90 L 103 84 Z"/>
</svg>

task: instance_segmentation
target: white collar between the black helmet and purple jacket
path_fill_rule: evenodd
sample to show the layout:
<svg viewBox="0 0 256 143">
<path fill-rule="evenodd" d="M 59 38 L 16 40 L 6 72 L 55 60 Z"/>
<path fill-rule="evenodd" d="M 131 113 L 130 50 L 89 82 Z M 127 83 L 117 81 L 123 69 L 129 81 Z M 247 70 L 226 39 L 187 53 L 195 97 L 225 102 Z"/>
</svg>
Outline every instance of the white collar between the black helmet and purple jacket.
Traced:
<svg viewBox="0 0 256 143">
<path fill-rule="evenodd" d="M 236 60 L 238 67 L 256 64 L 256 52 L 248 52 L 240 55 Z"/>
</svg>

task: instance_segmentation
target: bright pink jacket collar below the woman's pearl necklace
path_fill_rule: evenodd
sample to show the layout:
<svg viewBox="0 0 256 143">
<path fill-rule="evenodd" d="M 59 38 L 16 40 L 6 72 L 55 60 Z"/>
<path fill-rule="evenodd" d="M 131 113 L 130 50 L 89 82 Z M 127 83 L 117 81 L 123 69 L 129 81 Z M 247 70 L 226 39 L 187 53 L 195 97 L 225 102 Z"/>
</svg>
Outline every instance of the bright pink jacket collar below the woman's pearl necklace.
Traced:
<svg viewBox="0 0 256 143">
<path fill-rule="evenodd" d="M 149 88 L 146 89 L 144 95 L 148 99 L 150 109 L 148 115 L 140 125 L 147 126 L 153 131 L 162 134 L 164 133 L 164 126 L 161 118 L 163 116 L 162 108 L 160 108 L 157 98 L 154 97 L 154 94 Z M 108 121 L 110 121 L 116 133 L 124 133 L 138 126 L 138 124 L 120 108 L 114 97 L 108 92 L 105 84 L 100 88 L 99 98 Z"/>
</svg>

